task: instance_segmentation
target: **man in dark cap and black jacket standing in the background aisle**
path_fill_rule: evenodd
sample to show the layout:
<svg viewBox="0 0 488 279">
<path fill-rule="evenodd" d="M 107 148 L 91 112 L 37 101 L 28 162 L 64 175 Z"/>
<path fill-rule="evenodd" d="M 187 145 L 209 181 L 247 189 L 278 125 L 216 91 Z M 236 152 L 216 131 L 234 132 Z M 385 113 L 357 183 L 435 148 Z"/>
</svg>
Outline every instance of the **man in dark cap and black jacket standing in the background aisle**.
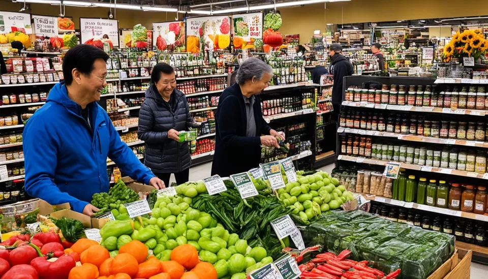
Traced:
<svg viewBox="0 0 488 279">
<path fill-rule="evenodd" d="M 332 119 L 337 121 L 342 103 L 344 77 L 352 75 L 354 70 L 349 60 L 342 55 L 342 46 L 340 44 L 334 43 L 330 45 L 329 56 L 332 59 L 332 63 L 329 66 L 329 73 L 334 76 L 334 86 L 332 87 L 332 105 L 334 111 Z"/>
</svg>

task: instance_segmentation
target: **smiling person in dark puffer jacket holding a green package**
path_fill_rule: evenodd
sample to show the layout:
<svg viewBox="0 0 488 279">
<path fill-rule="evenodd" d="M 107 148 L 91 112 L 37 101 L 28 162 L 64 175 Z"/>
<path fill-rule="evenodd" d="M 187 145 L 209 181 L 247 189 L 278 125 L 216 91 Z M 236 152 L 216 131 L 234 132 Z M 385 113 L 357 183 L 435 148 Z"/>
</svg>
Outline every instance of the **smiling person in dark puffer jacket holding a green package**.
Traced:
<svg viewBox="0 0 488 279">
<path fill-rule="evenodd" d="M 137 135 L 146 143 L 144 165 L 169 185 L 171 173 L 176 183 L 188 181 L 191 165 L 188 142 L 178 142 L 179 132 L 193 127 L 188 102 L 176 87 L 174 69 L 158 63 L 151 73 L 151 86 L 139 112 Z"/>
</svg>

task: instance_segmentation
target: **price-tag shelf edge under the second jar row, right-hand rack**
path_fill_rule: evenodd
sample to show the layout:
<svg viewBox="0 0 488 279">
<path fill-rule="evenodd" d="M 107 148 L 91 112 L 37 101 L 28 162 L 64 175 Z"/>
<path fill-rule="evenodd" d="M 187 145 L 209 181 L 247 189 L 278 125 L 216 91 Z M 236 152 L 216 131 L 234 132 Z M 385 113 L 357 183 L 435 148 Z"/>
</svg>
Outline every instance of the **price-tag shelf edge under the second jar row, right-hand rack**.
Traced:
<svg viewBox="0 0 488 279">
<path fill-rule="evenodd" d="M 486 147 L 488 148 L 488 142 L 484 141 L 474 141 L 474 140 L 458 140 L 458 139 L 441 139 L 432 138 L 416 135 L 404 135 L 390 132 L 380 132 L 371 130 L 361 130 L 361 129 L 351 129 L 340 127 L 337 129 L 338 133 L 349 133 L 349 134 L 359 134 L 377 137 L 391 137 L 397 138 L 399 140 L 405 141 L 415 141 L 415 142 L 425 142 L 425 143 L 435 143 L 435 144 L 452 144 L 452 145 L 462 145 L 462 146 L 475 146 L 475 147 Z"/>
</svg>

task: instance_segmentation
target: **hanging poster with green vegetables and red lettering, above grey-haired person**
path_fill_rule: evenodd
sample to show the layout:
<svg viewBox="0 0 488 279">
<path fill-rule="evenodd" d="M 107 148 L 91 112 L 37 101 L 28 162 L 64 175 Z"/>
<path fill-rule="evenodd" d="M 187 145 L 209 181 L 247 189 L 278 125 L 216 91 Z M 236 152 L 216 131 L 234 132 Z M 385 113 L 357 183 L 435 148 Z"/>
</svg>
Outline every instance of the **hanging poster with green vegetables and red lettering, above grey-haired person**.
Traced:
<svg viewBox="0 0 488 279">
<path fill-rule="evenodd" d="M 232 35 L 234 48 L 252 44 L 263 38 L 263 13 L 250 13 L 232 16 Z"/>
</svg>

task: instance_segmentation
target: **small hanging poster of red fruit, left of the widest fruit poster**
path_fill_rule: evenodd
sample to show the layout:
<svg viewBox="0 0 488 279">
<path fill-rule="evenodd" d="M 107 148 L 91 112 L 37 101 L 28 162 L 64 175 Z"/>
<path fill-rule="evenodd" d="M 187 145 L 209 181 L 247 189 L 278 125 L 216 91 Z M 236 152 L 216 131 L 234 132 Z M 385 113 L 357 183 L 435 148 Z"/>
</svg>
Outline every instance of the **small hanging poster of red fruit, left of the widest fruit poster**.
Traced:
<svg viewBox="0 0 488 279">
<path fill-rule="evenodd" d="M 183 21 L 153 23 L 153 32 L 153 49 L 172 51 L 185 46 Z"/>
</svg>

